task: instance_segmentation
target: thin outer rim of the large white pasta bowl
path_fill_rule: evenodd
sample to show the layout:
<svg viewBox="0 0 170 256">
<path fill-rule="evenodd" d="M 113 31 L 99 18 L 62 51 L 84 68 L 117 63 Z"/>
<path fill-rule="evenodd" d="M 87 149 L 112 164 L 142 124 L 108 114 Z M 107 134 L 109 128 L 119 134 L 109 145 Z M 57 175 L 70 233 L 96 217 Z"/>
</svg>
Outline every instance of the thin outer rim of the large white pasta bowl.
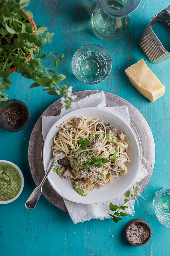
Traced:
<svg viewBox="0 0 170 256">
<path fill-rule="evenodd" d="M 131 134 L 132 134 L 132 136 L 133 136 L 133 138 L 134 138 L 134 140 L 135 140 L 135 142 L 136 142 L 136 149 L 137 149 L 138 155 L 139 155 L 138 170 L 137 170 L 137 172 L 136 172 L 136 176 L 133 178 L 133 180 L 132 180 L 131 183 L 130 183 L 130 186 L 132 186 L 133 183 L 134 183 L 135 180 L 136 180 L 136 177 L 137 177 L 138 173 L 139 173 L 141 160 L 140 160 L 139 145 L 138 145 L 138 142 L 137 142 L 137 140 L 136 140 L 136 137 L 135 137 L 135 135 L 134 135 L 132 129 L 130 128 L 130 126 L 126 123 L 126 121 L 125 121 L 122 117 L 120 117 L 118 114 L 116 114 L 115 112 L 110 111 L 110 110 L 108 110 L 108 109 L 105 109 L 105 108 L 98 108 L 98 107 L 86 107 L 86 108 L 80 108 L 80 109 L 81 109 L 81 110 L 82 110 L 82 109 L 87 109 L 87 112 L 88 112 L 88 110 L 89 110 L 89 111 L 92 111 L 92 109 L 95 109 L 95 110 L 97 110 L 97 111 L 100 111 L 100 109 L 101 109 L 101 110 L 105 110 L 105 111 L 110 112 L 110 113 L 112 113 L 113 115 L 115 115 L 115 117 L 121 119 L 121 121 L 124 123 L 124 125 L 128 126 L 128 129 L 131 131 Z M 75 110 L 73 110 L 73 111 L 75 112 L 75 111 L 77 111 L 77 110 L 79 110 L 79 109 L 75 109 Z M 48 131 L 48 133 L 47 133 L 47 135 L 46 135 L 46 139 L 47 139 L 47 137 L 48 137 L 48 134 L 51 133 L 52 127 L 56 126 L 56 123 L 58 123 L 58 121 L 60 121 L 60 120 L 63 119 L 63 118 L 66 120 L 67 118 L 71 118 L 71 117 L 73 117 L 74 115 L 76 115 L 76 114 L 72 115 L 73 111 L 70 111 L 70 112 L 64 114 L 62 117 L 60 117 L 60 118 L 51 126 L 51 128 L 49 129 L 49 131 Z M 69 115 L 69 117 L 67 117 L 67 115 Z M 66 116 L 66 117 L 65 117 L 65 116 Z M 59 125 L 59 124 L 57 124 L 57 125 Z M 44 163 L 45 163 L 44 154 L 45 154 L 46 139 L 45 139 L 45 142 L 44 142 L 43 154 L 42 154 L 43 166 L 44 166 Z M 45 168 L 44 168 L 44 170 L 45 170 Z M 45 170 L 45 173 L 46 173 L 46 170 Z M 47 179 L 48 179 L 50 185 L 52 186 L 52 183 L 51 183 L 51 181 L 50 181 L 49 176 L 47 177 Z M 129 187 L 130 187 L 130 186 L 129 186 Z M 128 187 L 127 189 L 129 189 L 129 187 Z M 54 186 L 52 186 L 52 188 L 58 193 L 58 189 L 55 189 Z M 125 191 L 127 191 L 127 189 L 124 189 L 121 194 L 123 194 Z M 60 193 L 58 193 L 58 194 L 59 194 L 61 197 L 65 198 L 65 199 L 67 199 L 67 200 L 70 200 L 70 199 L 67 198 L 66 196 L 63 196 L 63 195 L 61 195 Z M 121 194 L 120 194 L 120 195 L 121 195 Z M 119 196 L 119 195 L 118 195 L 118 196 Z M 117 196 L 116 196 L 116 197 L 117 197 Z M 97 203 L 103 203 L 103 202 L 105 202 L 105 201 L 112 200 L 113 198 L 116 198 L 116 197 L 113 196 L 112 198 L 106 199 L 106 200 L 104 200 L 104 201 L 102 200 L 102 201 L 97 202 Z M 73 199 L 73 198 L 72 198 L 70 201 L 73 201 L 73 202 L 75 202 L 75 203 L 81 203 L 81 202 L 76 201 L 76 199 Z M 86 200 L 85 200 L 85 201 L 86 201 Z M 94 202 L 85 202 L 85 201 L 84 201 L 83 204 L 94 204 Z M 96 203 L 96 202 L 95 202 L 95 203 Z"/>
</svg>

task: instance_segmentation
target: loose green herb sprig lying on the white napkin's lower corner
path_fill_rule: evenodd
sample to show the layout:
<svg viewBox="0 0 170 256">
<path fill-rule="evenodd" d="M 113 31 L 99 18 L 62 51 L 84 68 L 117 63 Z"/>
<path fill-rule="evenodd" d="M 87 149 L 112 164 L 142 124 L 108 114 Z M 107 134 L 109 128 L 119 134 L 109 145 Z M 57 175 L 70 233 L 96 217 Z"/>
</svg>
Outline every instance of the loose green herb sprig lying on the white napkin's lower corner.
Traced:
<svg viewBox="0 0 170 256">
<path fill-rule="evenodd" d="M 134 200 L 135 196 L 137 195 L 137 190 L 135 188 L 136 188 L 136 183 L 133 186 L 134 195 L 130 199 L 128 199 L 128 197 L 130 196 L 130 191 L 128 190 L 125 194 L 126 199 L 124 199 L 124 203 L 121 206 L 118 207 L 117 205 L 113 205 L 112 202 L 110 202 L 109 208 L 111 211 L 114 211 L 114 215 L 112 215 L 110 213 L 109 213 L 109 215 L 113 217 L 113 221 L 115 223 L 118 223 L 119 220 L 123 220 L 122 218 L 120 218 L 120 216 L 124 217 L 124 216 L 128 215 L 125 212 L 119 212 L 119 211 L 120 210 L 124 211 L 126 208 L 128 208 L 128 206 L 126 206 L 125 204 L 130 200 Z"/>
</svg>

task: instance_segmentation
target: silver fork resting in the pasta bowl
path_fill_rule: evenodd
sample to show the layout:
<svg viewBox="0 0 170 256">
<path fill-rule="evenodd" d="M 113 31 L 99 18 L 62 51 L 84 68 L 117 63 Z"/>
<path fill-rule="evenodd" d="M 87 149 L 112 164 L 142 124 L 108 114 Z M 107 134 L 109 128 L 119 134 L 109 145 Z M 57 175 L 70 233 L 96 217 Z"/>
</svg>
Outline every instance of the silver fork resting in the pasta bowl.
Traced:
<svg viewBox="0 0 170 256">
<path fill-rule="evenodd" d="M 59 154 L 59 152 L 60 151 L 55 151 L 54 153 L 55 154 Z M 60 159 L 64 158 L 65 155 L 66 154 L 64 152 L 62 152 L 62 154 L 59 155 L 59 156 L 55 156 L 54 155 L 54 159 L 52 161 L 52 164 L 50 165 L 49 169 L 47 170 L 46 175 L 44 176 L 44 178 L 41 181 L 40 185 L 34 189 L 34 191 L 32 192 L 32 194 L 30 195 L 30 197 L 28 198 L 28 200 L 25 203 L 25 207 L 28 210 L 33 210 L 35 208 L 35 206 L 36 206 L 36 204 L 37 204 L 37 202 L 38 202 L 38 200 L 40 198 L 40 195 L 42 193 L 42 186 L 43 186 L 47 176 L 49 175 L 52 167 L 55 165 L 57 160 L 60 160 Z"/>
</svg>

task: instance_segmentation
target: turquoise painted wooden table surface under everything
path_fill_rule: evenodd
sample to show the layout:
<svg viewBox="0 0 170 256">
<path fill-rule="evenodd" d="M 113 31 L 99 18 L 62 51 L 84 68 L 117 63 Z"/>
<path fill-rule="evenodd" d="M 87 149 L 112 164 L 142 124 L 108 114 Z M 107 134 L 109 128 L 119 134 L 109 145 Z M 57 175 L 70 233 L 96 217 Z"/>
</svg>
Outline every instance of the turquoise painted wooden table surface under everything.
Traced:
<svg viewBox="0 0 170 256">
<path fill-rule="evenodd" d="M 56 72 L 67 76 L 67 86 L 74 91 L 104 90 L 114 93 L 133 104 L 147 120 L 156 145 L 156 161 L 151 180 L 135 203 L 135 215 L 127 216 L 117 224 L 112 219 L 91 220 L 73 224 L 68 213 L 59 210 L 41 195 L 36 208 L 28 211 L 25 201 L 35 187 L 28 164 L 28 143 L 32 129 L 49 105 L 58 97 L 47 95 L 42 88 L 28 89 L 31 82 L 21 75 L 12 74 L 13 84 L 7 92 L 9 98 L 19 99 L 28 106 L 31 119 L 28 126 L 16 133 L 0 127 L 0 159 L 9 160 L 22 170 L 25 186 L 22 194 L 10 204 L 0 205 L 0 255 L 3 256 L 169 256 L 170 229 L 157 220 L 152 205 L 154 193 L 170 187 L 170 58 L 160 64 L 151 64 L 137 45 L 137 38 L 148 21 L 168 7 L 169 0 L 142 0 L 131 15 L 128 32 L 118 42 L 106 43 L 97 39 L 91 29 L 94 0 L 38 1 L 32 0 L 26 10 L 34 14 L 38 25 L 54 32 L 52 43 L 44 49 L 64 53 Z M 111 55 L 112 70 L 109 77 L 98 85 L 79 82 L 72 73 L 71 59 L 82 45 L 94 43 L 103 46 Z M 165 85 L 163 97 L 151 104 L 132 86 L 124 70 L 144 58 L 151 70 Z M 50 62 L 49 68 L 53 67 Z M 133 218 L 146 220 L 152 229 L 151 240 L 143 246 L 133 246 L 124 235 L 126 224 Z M 114 237 L 112 237 L 114 236 Z"/>
</svg>

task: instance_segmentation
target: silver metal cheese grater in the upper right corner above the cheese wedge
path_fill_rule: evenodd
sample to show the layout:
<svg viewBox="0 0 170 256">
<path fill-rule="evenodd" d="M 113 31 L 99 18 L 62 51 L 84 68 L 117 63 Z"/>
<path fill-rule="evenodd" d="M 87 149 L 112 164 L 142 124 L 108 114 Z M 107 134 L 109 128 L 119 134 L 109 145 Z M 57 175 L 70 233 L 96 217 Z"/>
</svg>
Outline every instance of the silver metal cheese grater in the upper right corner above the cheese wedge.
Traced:
<svg viewBox="0 0 170 256">
<path fill-rule="evenodd" d="M 170 57 L 170 52 L 166 51 L 152 30 L 152 27 L 158 22 L 164 23 L 170 31 L 170 5 L 151 18 L 142 35 L 138 38 L 140 48 L 153 64 L 158 64 Z"/>
</svg>

